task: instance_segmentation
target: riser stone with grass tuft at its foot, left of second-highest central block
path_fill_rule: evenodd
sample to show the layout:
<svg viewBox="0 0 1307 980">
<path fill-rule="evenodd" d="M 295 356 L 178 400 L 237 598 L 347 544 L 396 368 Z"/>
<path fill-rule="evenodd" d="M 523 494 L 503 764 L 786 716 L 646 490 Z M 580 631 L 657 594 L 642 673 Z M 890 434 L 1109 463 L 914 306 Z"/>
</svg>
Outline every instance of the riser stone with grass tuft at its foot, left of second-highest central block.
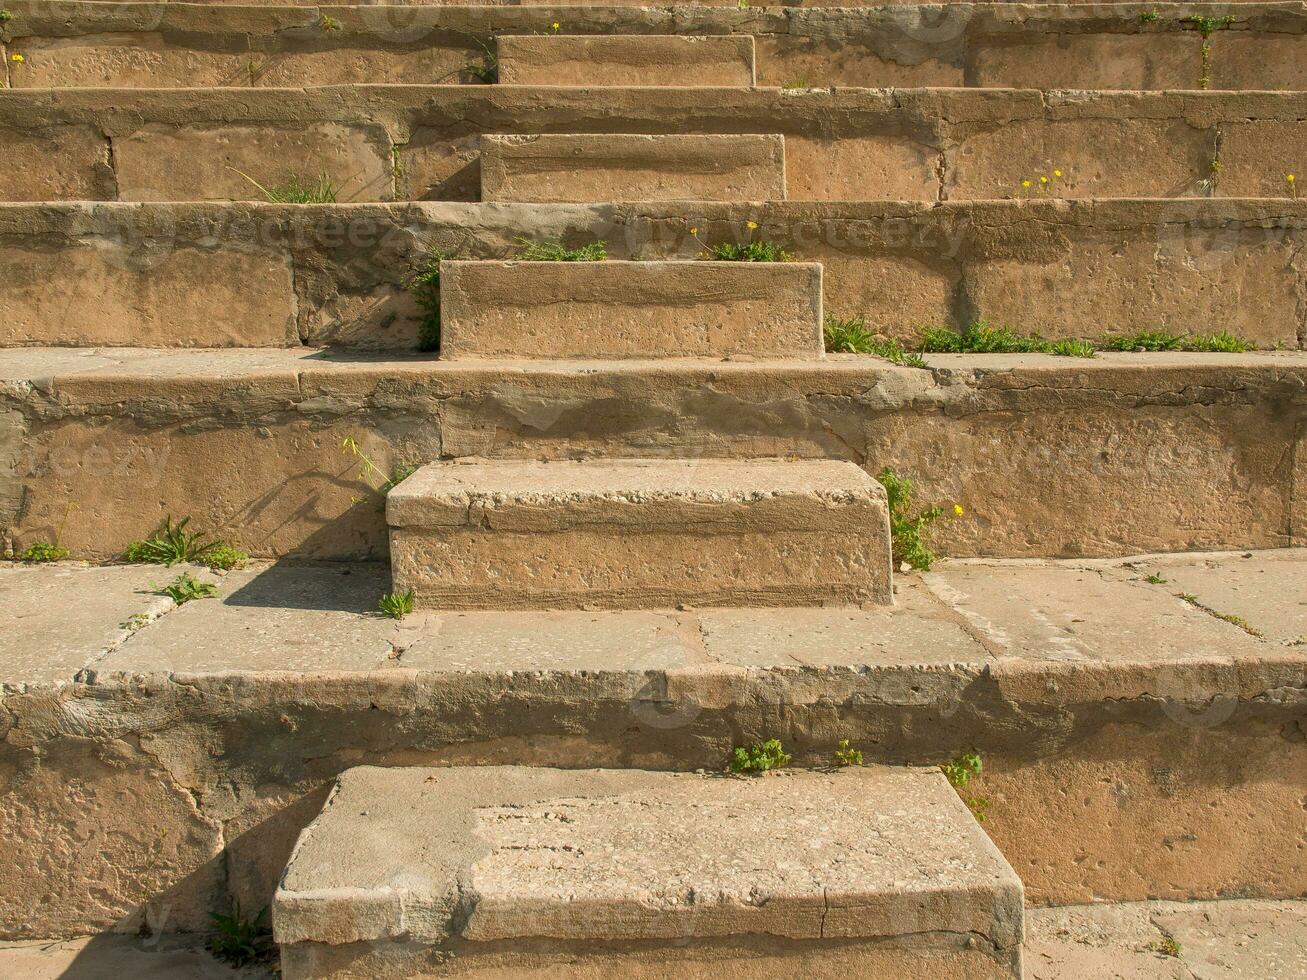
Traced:
<svg viewBox="0 0 1307 980">
<path fill-rule="evenodd" d="M 154 123 L 114 140 L 114 167 L 123 201 L 263 201 L 252 182 L 276 193 L 293 182 L 316 186 L 322 175 L 341 203 L 393 197 L 391 141 L 380 127 Z"/>
</svg>

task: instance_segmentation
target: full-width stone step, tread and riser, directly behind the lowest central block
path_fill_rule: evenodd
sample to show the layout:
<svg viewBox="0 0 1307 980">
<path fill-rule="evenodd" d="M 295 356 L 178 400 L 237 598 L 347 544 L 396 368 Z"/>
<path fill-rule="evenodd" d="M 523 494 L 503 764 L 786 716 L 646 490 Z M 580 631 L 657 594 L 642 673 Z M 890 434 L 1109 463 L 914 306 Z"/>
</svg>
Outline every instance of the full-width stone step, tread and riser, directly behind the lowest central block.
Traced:
<svg viewBox="0 0 1307 980">
<path fill-rule="evenodd" d="M 158 595 L 183 568 L 217 595 Z M 966 798 L 1033 904 L 1307 891 L 1302 549 L 946 561 L 863 609 L 396 622 L 389 588 L 379 563 L 0 563 L 0 937 L 265 908 L 365 755 L 721 772 L 766 738 L 799 767 L 843 738 L 868 764 L 976 750 Z M 69 827 L 95 845 L 51 849 Z"/>
</svg>

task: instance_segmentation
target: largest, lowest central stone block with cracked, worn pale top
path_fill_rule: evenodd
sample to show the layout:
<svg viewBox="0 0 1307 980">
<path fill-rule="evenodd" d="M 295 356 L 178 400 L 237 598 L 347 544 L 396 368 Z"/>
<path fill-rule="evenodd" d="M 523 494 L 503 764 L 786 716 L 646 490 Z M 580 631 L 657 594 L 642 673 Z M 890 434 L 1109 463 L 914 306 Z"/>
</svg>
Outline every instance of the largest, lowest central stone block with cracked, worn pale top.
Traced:
<svg viewBox="0 0 1307 980">
<path fill-rule="evenodd" d="M 1022 903 L 938 770 L 359 767 L 273 926 L 286 980 L 1019 977 Z"/>
</svg>

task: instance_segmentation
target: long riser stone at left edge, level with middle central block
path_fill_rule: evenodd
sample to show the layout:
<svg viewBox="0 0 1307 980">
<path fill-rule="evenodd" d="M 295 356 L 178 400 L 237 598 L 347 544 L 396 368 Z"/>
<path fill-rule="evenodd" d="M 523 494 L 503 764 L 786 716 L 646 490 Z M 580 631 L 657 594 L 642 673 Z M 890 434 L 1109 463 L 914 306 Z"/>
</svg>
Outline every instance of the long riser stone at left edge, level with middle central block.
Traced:
<svg viewBox="0 0 1307 980">
<path fill-rule="evenodd" d="M 290 264 L 274 252 L 108 235 L 64 248 L 0 246 L 0 345 L 298 342 Z"/>
</svg>

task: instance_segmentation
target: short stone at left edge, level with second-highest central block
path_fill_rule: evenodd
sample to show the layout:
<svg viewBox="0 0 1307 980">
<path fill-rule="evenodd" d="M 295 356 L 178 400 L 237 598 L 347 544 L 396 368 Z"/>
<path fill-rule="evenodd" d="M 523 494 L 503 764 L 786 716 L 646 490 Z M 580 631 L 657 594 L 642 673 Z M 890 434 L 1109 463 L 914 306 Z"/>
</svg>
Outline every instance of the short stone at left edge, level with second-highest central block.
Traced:
<svg viewBox="0 0 1307 980">
<path fill-rule="evenodd" d="M 0 201 L 112 200 L 108 140 L 90 125 L 46 132 L 0 128 Z"/>
</svg>

